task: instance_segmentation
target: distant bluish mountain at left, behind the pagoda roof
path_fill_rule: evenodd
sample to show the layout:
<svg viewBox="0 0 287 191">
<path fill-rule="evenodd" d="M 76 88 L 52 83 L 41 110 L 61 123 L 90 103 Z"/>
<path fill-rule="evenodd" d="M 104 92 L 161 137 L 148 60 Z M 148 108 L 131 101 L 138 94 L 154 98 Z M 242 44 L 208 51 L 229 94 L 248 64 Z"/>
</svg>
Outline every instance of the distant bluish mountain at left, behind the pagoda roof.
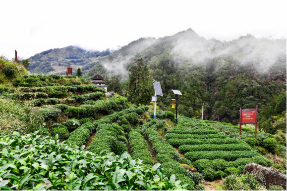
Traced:
<svg viewBox="0 0 287 191">
<path fill-rule="evenodd" d="M 87 51 L 76 46 L 54 48 L 35 54 L 29 58 L 30 72 L 36 74 L 65 74 L 66 67 L 81 68 L 83 73 L 98 64 L 114 50 Z M 76 70 L 74 70 L 75 72 Z"/>
</svg>

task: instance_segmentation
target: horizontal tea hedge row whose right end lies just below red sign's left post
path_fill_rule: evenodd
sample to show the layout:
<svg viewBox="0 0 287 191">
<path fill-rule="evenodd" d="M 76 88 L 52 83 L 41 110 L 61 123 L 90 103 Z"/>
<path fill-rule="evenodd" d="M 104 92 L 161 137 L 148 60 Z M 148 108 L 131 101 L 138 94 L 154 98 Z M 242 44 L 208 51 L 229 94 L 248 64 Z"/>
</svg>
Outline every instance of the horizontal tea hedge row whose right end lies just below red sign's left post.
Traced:
<svg viewBox="0 0 287 191">
<path fill-rule="evenodd" d="M 213 145 L 222 145 L 222 144 L 236 144 L 243 143 L 243 141 L 238 139 L 231 138 L 215 138 L 215 139 L 169 139 L 169 144 L 173 147 L 178 148 L 181 145 L 203 145 L 203 144 L 213 144 Z"/>
</svg>

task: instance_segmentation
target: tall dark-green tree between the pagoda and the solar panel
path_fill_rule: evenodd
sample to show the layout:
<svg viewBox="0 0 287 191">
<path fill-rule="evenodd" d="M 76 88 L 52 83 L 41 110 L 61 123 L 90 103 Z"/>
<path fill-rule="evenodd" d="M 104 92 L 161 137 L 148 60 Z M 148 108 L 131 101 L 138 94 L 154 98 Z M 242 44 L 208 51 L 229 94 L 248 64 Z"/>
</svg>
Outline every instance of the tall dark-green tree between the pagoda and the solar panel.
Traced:
<svg viewBox="0 0 287 191">
<path fill-rule="evenodd" d="M 140 54 L 132 59 L 129 72 L 127 99 L 137 106 L 149 104 L 152 95 L 152 77 Z"/>
</svg>

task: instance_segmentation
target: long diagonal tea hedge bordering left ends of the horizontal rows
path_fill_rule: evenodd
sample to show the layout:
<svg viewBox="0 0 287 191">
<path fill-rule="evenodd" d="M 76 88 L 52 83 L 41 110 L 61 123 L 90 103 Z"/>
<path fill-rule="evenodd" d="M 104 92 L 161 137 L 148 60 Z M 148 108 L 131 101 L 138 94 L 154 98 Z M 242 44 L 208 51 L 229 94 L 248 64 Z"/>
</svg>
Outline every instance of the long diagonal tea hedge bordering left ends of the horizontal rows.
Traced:
<svg viewBox="0 0 287 191">
<path fill-rule="evenodd" d="M 146 136 L 153 145 L 153 150 L 156 152 L 156 157 L 162 163 L 164 173 L 171 175 L 175 174 L 180 181 L 188 184 L 188 190 L 194 190 L 194 182 L 191 180 L 191 173 L 185 170 L 179 162 L 181 162 L 180 155 L 172 146 L 164 140 L 164 138 L 154 129 L 148 128 L 144 131 Z"/>
</svg>

